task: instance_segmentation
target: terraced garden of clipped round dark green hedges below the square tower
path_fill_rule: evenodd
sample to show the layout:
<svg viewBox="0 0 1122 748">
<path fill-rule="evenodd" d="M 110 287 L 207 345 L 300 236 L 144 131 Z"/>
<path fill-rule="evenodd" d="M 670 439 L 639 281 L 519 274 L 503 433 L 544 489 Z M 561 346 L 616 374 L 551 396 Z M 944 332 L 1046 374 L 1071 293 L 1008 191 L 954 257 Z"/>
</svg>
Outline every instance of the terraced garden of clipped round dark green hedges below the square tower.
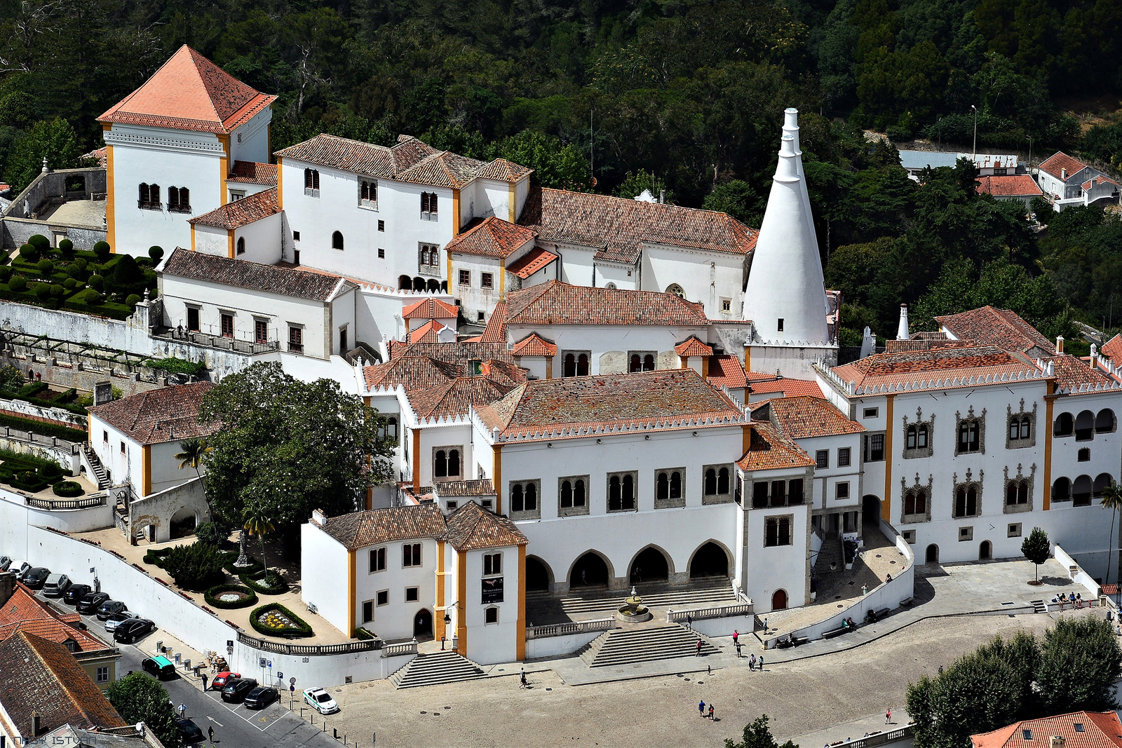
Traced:
<svg viewBox="0 0 1122 748">
<path fill-rule="evenodd" d="M 134 258 L 113 255 L 104 241 L 89 251 L 75 249 L 68 239 L 52 247 L 46 237 L 35 234 L 10 265 L 0 265 L 0 298 L 125 320 L 146 290 L 156 296 L 154 268 L 163 257 L 159 247 L 150 248 L 148 257 Z"/>
</svg>

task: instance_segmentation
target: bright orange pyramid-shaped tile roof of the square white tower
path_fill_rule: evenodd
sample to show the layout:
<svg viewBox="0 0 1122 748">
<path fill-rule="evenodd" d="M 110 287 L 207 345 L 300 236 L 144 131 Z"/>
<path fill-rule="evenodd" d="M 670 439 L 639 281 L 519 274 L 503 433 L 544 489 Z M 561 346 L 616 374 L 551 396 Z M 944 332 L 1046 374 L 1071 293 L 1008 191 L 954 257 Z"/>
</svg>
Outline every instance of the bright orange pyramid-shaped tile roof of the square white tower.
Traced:
<svg viewBox="0 0 1122 748">
<path fill-rule="evenodd" d="M 226 135 L 275 99 L 183 45 L 144 85 L 98 120 Z"/>
</svg>

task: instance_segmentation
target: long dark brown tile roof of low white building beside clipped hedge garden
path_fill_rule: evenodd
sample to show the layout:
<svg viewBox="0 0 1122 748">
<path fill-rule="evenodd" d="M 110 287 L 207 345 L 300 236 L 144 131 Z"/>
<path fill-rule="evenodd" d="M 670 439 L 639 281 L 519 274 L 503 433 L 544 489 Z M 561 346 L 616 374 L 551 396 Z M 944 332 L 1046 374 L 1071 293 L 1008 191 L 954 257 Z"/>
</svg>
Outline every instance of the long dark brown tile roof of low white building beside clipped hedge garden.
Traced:
<svg viewBox="0 0 1122 748">
<path fill-rule="evenodd" d="M 330 301 L 337 290 L 348 284 L 346 279 L 329 273 L 310 273 L 300 268 L 231 260 L 217 255 L 192 252 L 182 247 L 176 248 L 171 257 L 164 260 L 162 273 L 314 302 Z"/>
</svg>

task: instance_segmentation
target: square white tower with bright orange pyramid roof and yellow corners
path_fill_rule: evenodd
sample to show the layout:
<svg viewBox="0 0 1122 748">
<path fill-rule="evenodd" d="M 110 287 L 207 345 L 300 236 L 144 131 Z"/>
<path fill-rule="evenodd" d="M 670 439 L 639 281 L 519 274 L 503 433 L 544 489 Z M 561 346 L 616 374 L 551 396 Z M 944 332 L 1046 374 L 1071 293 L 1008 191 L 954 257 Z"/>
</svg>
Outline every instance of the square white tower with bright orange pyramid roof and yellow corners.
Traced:
<svg viewBox="0 0 1122 748">
<path fill-rule="evenodd" d="M 98 118 L 113 250 L 142 255 L 153 244 L 190 247 L 185 219 L 228 202 L 233 165 L 269 160 L 275 99 L 184 45 Z"/>
</svg>

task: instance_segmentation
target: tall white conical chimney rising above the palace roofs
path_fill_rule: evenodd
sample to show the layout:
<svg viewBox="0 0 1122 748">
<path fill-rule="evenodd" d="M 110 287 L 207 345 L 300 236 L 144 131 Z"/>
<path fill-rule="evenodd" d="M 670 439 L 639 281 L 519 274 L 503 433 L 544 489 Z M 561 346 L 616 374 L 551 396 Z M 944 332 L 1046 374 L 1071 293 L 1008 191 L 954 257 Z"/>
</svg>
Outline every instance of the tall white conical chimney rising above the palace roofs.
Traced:
<svg viewBox="0 0 1122 748">
<path fill-rule="evenodd" d="M 760 340 L 827 343 L 826 290 L 810 197 L 798 151 L 798 112 L 784 112 L 783 139 L 745 289 L 744 316 Z"/>
</svg>

